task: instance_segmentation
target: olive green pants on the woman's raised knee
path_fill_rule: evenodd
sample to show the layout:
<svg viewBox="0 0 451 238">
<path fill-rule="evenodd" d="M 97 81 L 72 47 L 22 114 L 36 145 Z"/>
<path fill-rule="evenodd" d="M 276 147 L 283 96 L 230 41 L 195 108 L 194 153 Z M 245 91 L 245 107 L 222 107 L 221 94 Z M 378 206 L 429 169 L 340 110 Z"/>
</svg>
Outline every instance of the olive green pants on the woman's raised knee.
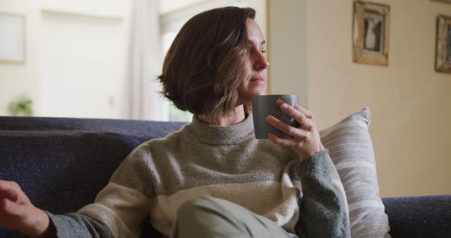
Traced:
<svg viewBox="0 0 451 238">
<path fill-rule="evenodd" d="M 173 238 L 290 238 L 276 223 L 223 199 L 198 197 L 180 206 Z"/>
</svg>

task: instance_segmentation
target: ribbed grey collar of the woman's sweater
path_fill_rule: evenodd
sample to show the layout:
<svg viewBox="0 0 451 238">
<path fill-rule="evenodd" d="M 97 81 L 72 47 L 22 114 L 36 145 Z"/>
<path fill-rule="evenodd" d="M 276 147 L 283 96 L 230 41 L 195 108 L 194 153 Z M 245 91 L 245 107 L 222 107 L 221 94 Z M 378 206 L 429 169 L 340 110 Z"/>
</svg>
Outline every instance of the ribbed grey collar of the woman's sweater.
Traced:
<svg viewBox="0 0 451 238">
<path fill-rule="evenodd" d="M 228 126 L 209 125 L 193 115 L 192 123 L 185 126 L 187 132 L 206 144 L 230 145 L 245 142 L 254 137 L 252 113 L 241 123 Z"/>
</svg>

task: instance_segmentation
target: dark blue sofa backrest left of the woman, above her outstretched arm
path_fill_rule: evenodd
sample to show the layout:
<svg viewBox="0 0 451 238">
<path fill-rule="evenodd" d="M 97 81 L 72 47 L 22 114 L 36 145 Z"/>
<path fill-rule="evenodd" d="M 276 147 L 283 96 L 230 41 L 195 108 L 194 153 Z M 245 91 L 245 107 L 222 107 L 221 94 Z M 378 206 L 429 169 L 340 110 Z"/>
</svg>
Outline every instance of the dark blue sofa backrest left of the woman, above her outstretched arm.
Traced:
<svg viewBox="0 0 451 238">
<path fill-rule="evenodd" d="M 75 212 L 94 201 L 132 149 L 183 124 L 0 117 L 0 179 L 18 182 L 39 208 L 56 214 Z M 0 237 L 18 236 L 0 227 Z"/>
</svg>

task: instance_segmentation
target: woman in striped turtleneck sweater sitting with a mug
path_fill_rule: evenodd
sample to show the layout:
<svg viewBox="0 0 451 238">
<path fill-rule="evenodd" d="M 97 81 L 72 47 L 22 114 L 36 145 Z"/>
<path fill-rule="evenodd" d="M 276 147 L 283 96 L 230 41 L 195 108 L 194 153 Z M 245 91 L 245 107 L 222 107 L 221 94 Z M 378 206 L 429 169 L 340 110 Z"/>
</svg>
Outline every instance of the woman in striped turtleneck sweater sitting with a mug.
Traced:
<svg viewBox="0 0 451 238">
<path fill-rule="evenodd" d="M 175 37 L 159 80 L 192 123 L 138 146 L 78 213 L 45 213 L 17 184 L 0 182 L 0 225 L 28 237 L 139 237 L 150 215 L 172 237 L 350 237 L 344 191 L 314 116 L 279 100 L 300 126 L 266 119 L 292 139 L 254 138 L 249 104 L 268 68 L 254 15 L 216 8 Z"/>
</svg>

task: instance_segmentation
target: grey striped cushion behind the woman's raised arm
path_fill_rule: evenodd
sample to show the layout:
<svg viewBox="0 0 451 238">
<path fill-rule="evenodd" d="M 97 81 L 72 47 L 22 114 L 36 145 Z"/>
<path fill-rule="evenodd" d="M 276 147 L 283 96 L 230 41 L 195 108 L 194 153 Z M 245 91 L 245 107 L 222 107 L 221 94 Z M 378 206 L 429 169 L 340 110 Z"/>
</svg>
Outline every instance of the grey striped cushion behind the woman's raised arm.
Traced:
<svg viewBox="0 0 451 238">
<path fill-rule="evenodd" d="M 376 161 L 369 135 L 371 112 L 354 113 L 325 130 L 321 142 L 329 150 L 347 196 L 351 237 L 390 237 L 388 216 L 379 196 Z"/>
</svg>

